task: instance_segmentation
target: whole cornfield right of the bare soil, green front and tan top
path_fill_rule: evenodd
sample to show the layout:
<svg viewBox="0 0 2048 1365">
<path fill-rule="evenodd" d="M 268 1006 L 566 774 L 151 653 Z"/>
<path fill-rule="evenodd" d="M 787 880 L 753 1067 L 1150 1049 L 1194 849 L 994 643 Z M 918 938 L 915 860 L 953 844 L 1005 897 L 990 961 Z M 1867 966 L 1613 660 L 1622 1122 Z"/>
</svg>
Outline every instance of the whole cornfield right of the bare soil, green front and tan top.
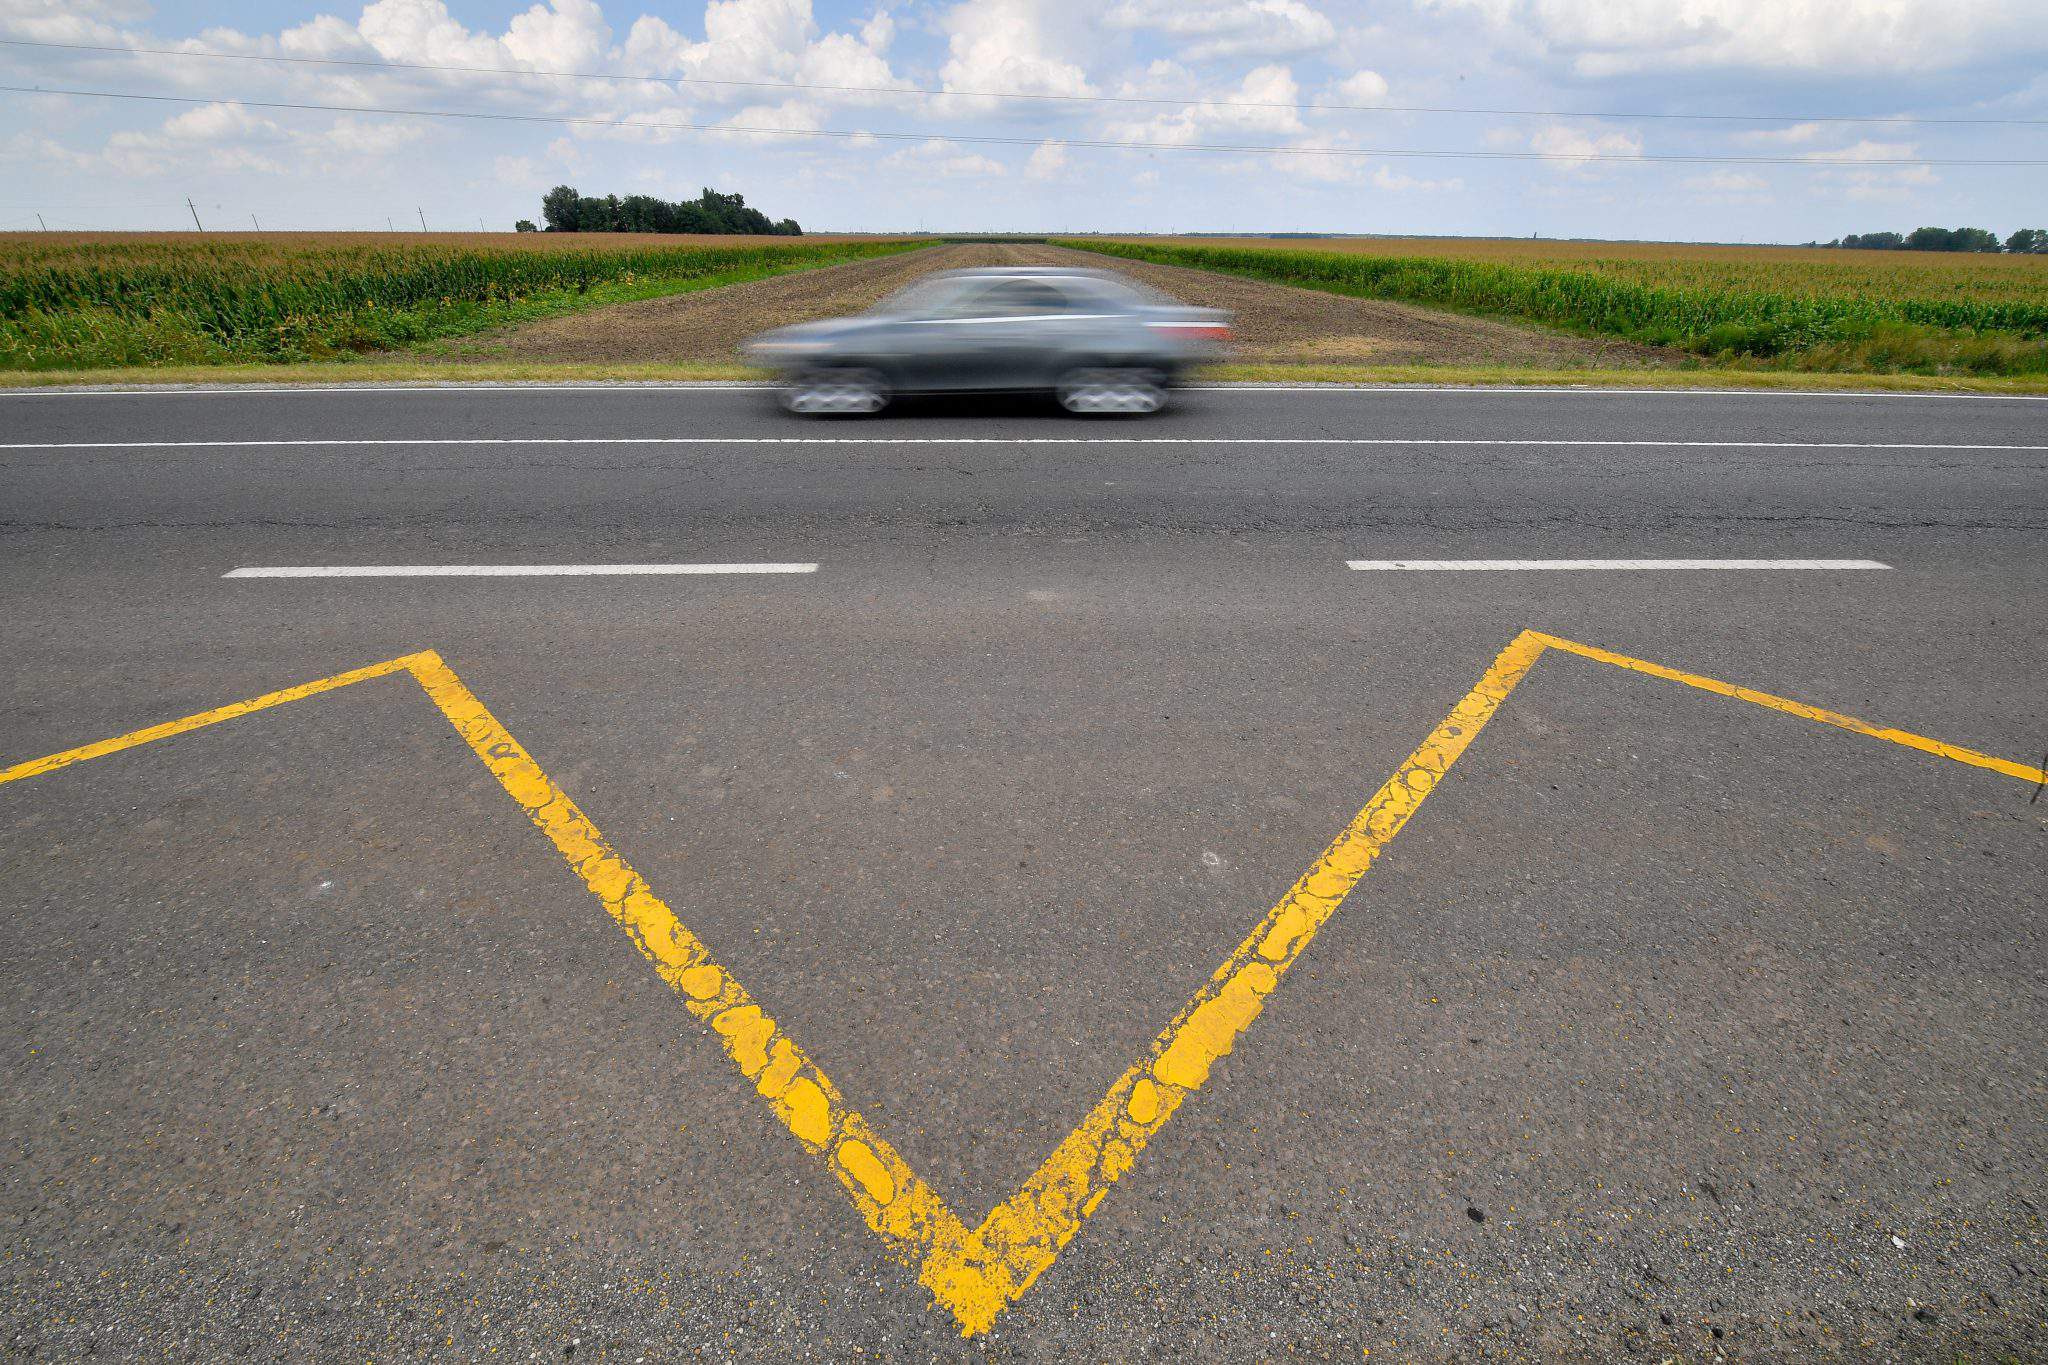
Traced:
<svg viewBox="0 0 2048 1365">
<path fill-rule="evenodd" d="M 2044 258 L 1454 239 L 1061 246 L 1722 358 L 1839 358 L 1876 346 L 1944 352 L 1964 368 L 2048 368 Z"/>
</svg>

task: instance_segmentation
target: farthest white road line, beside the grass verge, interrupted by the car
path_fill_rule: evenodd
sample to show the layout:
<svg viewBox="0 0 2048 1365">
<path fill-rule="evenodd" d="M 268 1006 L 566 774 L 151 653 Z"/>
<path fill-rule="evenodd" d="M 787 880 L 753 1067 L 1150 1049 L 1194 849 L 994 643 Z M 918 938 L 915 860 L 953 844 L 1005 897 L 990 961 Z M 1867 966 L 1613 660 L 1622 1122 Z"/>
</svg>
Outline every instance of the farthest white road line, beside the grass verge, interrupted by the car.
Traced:
<svg viewBox="0 0 2048 1365">
<path fill-rule="evenodd" d="M 772 389 L 776 381 L 594 381 L 594 383 L 502 383 L 502 385 L 233 385 L 221 389 L 0 389 L 0 397 L 20 399 L 121 399 L 121 397 L 262 397 L 291 393 L 743 393 Z M 2048 393 L 1901 393 L 1890 389 L 1606 389 L 1593 385 L 1186 385 L 1188 393 L 1454 393 L 1466 397 L 1577 395 L 1577 397 L 1745 397 L 1745 399 L 1989 399 L 1999 403 L 2048 403 Z"/>
</svg>

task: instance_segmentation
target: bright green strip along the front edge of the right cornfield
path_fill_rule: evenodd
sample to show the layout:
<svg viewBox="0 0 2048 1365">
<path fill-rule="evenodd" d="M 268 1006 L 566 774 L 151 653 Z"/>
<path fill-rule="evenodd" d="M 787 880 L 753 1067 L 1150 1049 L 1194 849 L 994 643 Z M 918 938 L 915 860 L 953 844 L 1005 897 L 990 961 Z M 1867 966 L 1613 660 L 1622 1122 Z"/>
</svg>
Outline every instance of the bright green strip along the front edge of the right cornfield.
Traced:
<svg viewBox="0 0 2048 1365">
<path fill-rule="evenodd" d="M 1815 293 L 1790 276 L 1784 289 L 1724 289 L 1653 282 L 1655 276 L 1642 278 L 1642 262 L 1602 270 L 1599 262 L 1571 268 L 1470 256 L 1370 256 L 1368 244 L 1341 252 L 1102 239 L 1059 246 L 1618 336 L 1749 368 L 2048 375 L 2048 297 L 2036 293 L 1999 299 L 1880 289 Z"/>
</svg>

